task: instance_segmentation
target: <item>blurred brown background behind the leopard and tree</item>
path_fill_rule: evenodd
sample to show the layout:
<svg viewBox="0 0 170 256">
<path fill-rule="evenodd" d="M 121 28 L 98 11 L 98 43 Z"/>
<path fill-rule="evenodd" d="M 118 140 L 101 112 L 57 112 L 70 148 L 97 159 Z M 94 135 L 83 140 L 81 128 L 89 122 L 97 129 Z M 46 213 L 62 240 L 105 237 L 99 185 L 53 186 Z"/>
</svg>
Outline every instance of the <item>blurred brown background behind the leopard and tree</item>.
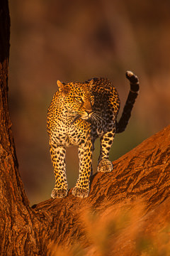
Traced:
<svg viewBox="0 0 170 256">
<path fill-rule="evenodd" d="M 118 89 L 120 114 L 128 96 L 125 71 L 140 78 L 128 128 L 117 134 L 118 159 L 169 124 L 170 1 L 10 1 L 9 105 L 19 171 L 30 203 L 50 198 L 55 183 L 47 107 L 56 81 L 106 77 Z M 94 172 L 98 142 L 94 153 Z M 67 150 L 69 188 L 78 176 L 77 148 Z"/>
</svg>

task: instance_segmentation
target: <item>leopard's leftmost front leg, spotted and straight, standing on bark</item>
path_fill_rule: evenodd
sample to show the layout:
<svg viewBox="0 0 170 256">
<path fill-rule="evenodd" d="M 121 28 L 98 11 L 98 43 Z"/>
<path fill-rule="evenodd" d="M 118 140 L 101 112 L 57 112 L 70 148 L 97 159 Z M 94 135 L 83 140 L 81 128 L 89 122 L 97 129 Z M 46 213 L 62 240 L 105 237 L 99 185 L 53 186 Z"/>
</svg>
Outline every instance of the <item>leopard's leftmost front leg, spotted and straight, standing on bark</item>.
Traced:
<svg viewBox="0 0 170 256">
<path fill-rule="evenodd" d="M 64 146 L 50 143 L 50 154 L 55 172 L 55 188 L 52 190 L 52 198 L 63 198 L 67 196 L 68 184 L 65 170 L 65 153 Z"/>
</svg>

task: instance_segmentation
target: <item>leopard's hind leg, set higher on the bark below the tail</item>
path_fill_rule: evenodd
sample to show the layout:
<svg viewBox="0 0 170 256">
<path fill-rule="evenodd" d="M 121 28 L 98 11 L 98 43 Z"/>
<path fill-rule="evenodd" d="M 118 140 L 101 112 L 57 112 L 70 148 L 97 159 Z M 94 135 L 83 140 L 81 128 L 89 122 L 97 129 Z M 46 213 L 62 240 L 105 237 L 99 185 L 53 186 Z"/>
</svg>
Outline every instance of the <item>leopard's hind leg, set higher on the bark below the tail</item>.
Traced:
<svg viewBox="0 0 170 256">
<path fill-rule="evenodd" d="M 110 172 L 113 170 L 113 164 L 108 160 L 109 151 L 113 144 L 113 139 L 115 137 L 115 129 L 106 134 L 103 134 L 101 137 L 101 151 L 98 159 L 98 168 L 97 171 L 101 172 Z"/>
</svg>

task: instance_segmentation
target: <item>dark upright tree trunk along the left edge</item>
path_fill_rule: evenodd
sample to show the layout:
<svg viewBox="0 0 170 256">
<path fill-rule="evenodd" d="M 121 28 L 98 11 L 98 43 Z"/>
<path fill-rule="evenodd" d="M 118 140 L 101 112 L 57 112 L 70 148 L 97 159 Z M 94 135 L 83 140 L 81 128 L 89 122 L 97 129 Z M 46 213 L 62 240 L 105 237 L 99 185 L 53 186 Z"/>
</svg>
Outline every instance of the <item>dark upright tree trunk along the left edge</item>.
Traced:
<svg viewBox="0 0 170 256">
<path fill-rule="evenodd" d="M 0 253 L 24 255 L 22 244 L 33 233 L 31 210 L 18 173 L 8 112 L 10 17 L 8 1 L 0 1 Z M 21 242 L 21 245 L 20 245 Z M 31 244 L 30 244 L 31 245 Z M 34 246 L 35 247 L 35 246 Z"/>
</svg>

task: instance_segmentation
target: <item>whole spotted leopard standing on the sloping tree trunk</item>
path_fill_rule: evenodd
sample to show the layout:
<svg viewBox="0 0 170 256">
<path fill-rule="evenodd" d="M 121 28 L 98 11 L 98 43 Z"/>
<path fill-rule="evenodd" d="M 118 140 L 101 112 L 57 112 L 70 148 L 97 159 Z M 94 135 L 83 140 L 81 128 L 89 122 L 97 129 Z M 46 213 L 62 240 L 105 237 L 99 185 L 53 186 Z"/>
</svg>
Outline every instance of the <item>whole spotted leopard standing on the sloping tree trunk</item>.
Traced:
<svg viewBox="0 0 170 256">
<path fill-rule="evenodd" d="M 86 198 L 90 191 L 92 153 L 94 142 L 100 138 L 98 172 L 113 171 L 108 159 L 116 133 L 123 132 L 131 116 L 140 84 L 132 71 L 125 73 L 130 82 L 130 91 L 117 121 L 120 110 L 118 92 L 107 78 L 91 78 L 85 82 L 61 82 L 47 110 L 47 133 L 50 138 L 50 156 L 55 174 L 52 198 L 64 198 L 68 193 L 66 175 L 66 148 L 78 146 L 79 178 L 72 194 Z"/>
</svg>

